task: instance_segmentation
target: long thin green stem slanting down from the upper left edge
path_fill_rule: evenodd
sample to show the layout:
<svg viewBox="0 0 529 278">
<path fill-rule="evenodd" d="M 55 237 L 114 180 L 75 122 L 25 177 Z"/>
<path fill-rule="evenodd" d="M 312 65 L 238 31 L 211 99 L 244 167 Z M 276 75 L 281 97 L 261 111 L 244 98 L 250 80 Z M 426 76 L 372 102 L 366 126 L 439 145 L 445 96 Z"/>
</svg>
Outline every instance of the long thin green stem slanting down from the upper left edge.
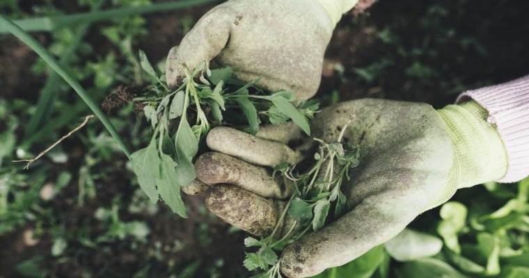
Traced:
<svg viewBox="0 0 529 278">
<path fill-rule="evenodd" d="M 77 95 L 83 99 L 83 101 L 86 103 L 86 105 L 90 108 L 90 110 L 93 111 L 93 113 L 100 119 L 104 127 L 109 131 L 111 136 L 116 140 L 120 148 L 123 150 L 127 158 L 130 159 L 130 152 L 125 146 L 125 143 L 123 140 L 121 140 L 118 131 L 116 131 L 116 128 L 112 125 L 112 123 L 109 121 L 109 119 L 104 115 L 103 111 L 95 104 L 90 97 L 88 97 L 88 94 L 83 89 L 81 84 L 77 82 L 77 80 L 73 79 L 68 72 L 64 70 L 64 68 L 59 65 L 57 60 L 52 57 L 49 52 L 42 47 L 42 44 L 37 42 L 31 35 L 26 33 L 24 30 L 22 30 L 19 26 L 15 25 L 13 22 L 11 22 L 9 19 L 6 19 L 6 17 L 3 17 L 3 15 L 0 15 L 0 26 L 3 26 L 3 28 L 6 28 L 6 30 L 15 37 L 19 38 L 19 40 L 22 40 L 25 44 L 27 44 L 33 51 L 35 51 L 42 60 L 45 60 L 46 63 L 48 63 L 49 67 L 52 67 L 52 69 L 57 72 L 58 75 L 60 75 L 68 85 L 70 85 L 75 92 L 77 92 Z"/>
</svg>

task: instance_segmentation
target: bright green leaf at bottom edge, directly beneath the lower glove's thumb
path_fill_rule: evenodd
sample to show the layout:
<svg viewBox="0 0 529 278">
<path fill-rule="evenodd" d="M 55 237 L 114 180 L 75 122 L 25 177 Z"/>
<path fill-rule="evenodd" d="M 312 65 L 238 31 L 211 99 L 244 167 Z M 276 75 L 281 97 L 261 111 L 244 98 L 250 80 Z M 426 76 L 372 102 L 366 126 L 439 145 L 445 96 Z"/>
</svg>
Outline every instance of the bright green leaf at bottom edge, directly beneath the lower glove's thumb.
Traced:
<svg viewBox="0 0 529 278">
<path fill-rule="evenodd" d="M 384 247 L 379 245 L 362 256 L 359 256 L 354 261 L 339 266 L 338 268 L 329 268 L 312 278 L 370 278 L 375 270 L 379 268 L 385 257 Z"/>
</svg>

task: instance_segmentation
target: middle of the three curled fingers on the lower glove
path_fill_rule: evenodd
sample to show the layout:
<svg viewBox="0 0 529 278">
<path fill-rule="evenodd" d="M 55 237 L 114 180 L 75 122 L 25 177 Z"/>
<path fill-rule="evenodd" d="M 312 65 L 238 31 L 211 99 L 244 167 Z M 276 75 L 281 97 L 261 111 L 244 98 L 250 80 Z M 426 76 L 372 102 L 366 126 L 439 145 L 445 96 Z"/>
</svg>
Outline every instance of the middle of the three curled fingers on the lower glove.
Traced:
<svg viewBox="0 0 529 278">
<path fill-rule="evenodd" d="M 264 167 L 219 152 L 208 152 L 197 158 L 195 173 L 204 183 L 229 183 L 267 198 L 287 199 L 294 191 L 290 184 L 285 186 L 271 177 Z"/>
</svg>

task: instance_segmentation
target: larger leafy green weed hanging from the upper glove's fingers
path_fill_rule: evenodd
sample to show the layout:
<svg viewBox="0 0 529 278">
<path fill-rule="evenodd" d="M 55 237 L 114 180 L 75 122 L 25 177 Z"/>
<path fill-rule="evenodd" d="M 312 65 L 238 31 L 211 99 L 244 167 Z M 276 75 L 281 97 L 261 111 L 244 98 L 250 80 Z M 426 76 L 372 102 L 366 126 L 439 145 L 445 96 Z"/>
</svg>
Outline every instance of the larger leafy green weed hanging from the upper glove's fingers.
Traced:
<svg viewBox="0 0 529 278">
<path fill-rule="evenodd" d="M 139 60 L 153 81 L 145 89 L 141 106 L 154 133 L 148 147 L 132 154 L 132 168 L 152 202 L 161 197 L 182 217 L 187 213 L 180 187 L 196 179 L 193 161 L 200 142 L 212 126 L 226 124 L 223 113 L 244 114 L 249 133 L 256 133 L 264 120 L 271 124 L 292 120 L 310 135 L 307 117 L 313 117 L 319 106 L 304 103 L 296 108 L 292 92 L 266 95 L 255 87 L 258 80 L 242 83 L 233 78 L 229 67 L 209 70 L 204 65 L 187 72 L 180 88 L 171 91 L 163 72 L 149 62 L 143 51 L 139 52 Z M 173 126 L 177 126 L 174 133 Z"/>
</svg>

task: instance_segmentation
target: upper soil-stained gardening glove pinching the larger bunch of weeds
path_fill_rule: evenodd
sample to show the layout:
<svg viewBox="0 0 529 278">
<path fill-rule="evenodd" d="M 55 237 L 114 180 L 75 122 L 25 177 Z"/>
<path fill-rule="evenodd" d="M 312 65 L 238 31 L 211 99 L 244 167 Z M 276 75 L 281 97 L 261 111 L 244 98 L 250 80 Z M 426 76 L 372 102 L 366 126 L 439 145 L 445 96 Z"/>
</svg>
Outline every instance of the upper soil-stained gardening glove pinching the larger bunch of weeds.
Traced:
<svg viewBox="0 0 529 278">
<path fill-rule="evenodd" d="M 171 89 L 185 68 L 211 60 L 230 66 L 242 81 L 261 78 L 261 88 L 291 90 L 299 100 L 315 95 L 333 28 L 357 0 L 230 0 L 206 13 L 169 51 Z"/>
</svg>

